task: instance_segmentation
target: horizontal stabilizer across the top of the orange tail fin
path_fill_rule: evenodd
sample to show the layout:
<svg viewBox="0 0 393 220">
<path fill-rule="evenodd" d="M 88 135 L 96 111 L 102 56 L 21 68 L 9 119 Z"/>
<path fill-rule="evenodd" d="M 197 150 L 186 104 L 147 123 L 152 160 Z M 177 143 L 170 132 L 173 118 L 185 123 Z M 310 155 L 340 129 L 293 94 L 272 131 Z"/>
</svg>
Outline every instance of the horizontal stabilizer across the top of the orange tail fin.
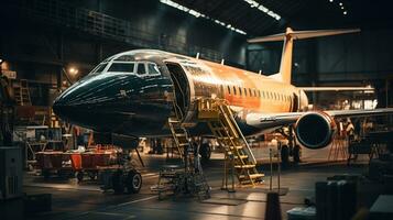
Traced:
<svg viewBox="0 0 393 220">
<path fill-rule="evenodd" d="M 287 30 L 286 33 L 250 38 L 248 40 L 248 42 L 261 43 L 261 42 L 284 41 L 285 36 L 287 35 L 292 36 L 292 38 L 294 40 L 298 40 L 298 38 L 310 38 L 310 37 L 318 37 L 318 36 L 330 36 L 330 35 L 338 35 L 338 34 L 348 34 L 348 33 L 356 33 L 356 32 L 360 32 L 360 29 L 317 30 L 317 31 L 292 31 L 290 29 Z"/>
</svg>

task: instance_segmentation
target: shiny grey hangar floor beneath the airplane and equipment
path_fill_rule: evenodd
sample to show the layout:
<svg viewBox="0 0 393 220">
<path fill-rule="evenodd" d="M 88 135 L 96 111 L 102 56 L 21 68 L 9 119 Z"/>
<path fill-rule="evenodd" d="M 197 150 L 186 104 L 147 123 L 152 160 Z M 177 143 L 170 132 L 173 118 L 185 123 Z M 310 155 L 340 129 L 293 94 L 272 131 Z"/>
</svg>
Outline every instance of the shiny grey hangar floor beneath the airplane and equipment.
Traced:
<svg viewBox="0 0 393 220">
<path fill-rule="evenodd" d="M 310 153 L 304 152 L 309 156 Z M 319 154 L 320 155 L 320 152 Z M 367 172 L 365 163 L 357 163 L 348 167 L 345 163 L 326 162 L 303 163 L 282 173 L 282 187 L 290 188 L 286 196 L 282 196 L 282 216 L 294 207 L 304 206 L 306 197 L 314 196 L 314 184 L 326 180 L 327 177 L 340 174 L 362 174 Z M 75 179 L 62 180 L 26 174 L 24 190 L 28 194 L 52 194 L 52 212 L 41 213 L 29 219 L 263 219 L 266 206 L 266 196 L 263 188 L 269 187 L 269 172 L 265 170 L 265 185 L 256 188 L 237 189 L 236 194 L 220 190 L 222 177 L 222 160 L 215 155 L 205 173 L 212 187 L 211 199 L 199 202 L 196 198 L 168 197 L 159 200 L 150 187 L 157 182 L 157 170 L 165 163 L 164 155 L 144 155 L 149 168 L 142 169 L 143 187 L 137 195 L 113 195 L 102 193 L 96 183 L 84 182 L 77 184 Z M 363 161 L 365 162 L 365 161 Z M 266 169 L 268 166 L 262 166 Z M 274 178 L 274 184 L 276 178 Z M 222 204 L 220 202 L 222 201 Z M 223 205 L 226 204 L 226 205 Z M 228 204 L 231 204 L 229 206 Z"/>
</svg>

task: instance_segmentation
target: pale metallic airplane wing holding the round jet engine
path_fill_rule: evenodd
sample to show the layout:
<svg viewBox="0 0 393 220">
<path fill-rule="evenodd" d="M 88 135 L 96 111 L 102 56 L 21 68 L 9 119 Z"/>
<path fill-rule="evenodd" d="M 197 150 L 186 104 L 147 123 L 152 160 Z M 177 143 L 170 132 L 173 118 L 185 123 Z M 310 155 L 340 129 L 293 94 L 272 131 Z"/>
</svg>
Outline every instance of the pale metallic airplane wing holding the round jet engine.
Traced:
<svg viewBox="0 0 393 220">
<path fill-rule="evenodd" d="M 360 118 L 360 117 L 376 117 L 393 114 L 393 108 L 384 109 L 371 109 L 371 110 L 331 110 L 324 111 L 332 118 Z M 245 122 L 248 125 L 270 129 L 275 127 L 282 127 L 287 124 L 293 124 L 302 116 L 308 112 L 287 112 L 287 113 L 249 113 L 245 117 Z"/>
</svg>

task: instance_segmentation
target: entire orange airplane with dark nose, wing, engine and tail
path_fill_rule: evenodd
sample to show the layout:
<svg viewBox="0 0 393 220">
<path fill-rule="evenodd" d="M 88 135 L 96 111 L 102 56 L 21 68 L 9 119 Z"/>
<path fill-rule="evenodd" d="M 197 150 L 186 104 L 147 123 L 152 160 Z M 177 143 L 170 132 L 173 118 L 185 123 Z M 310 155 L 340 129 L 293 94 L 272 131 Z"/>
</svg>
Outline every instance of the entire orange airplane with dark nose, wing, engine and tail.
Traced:
<svg viewBox="0 0 393 220">
<path fill-rule="evenodd" d="M 271 76 L 223 64 L 157 50 L 116 54 L 66 89 L 54 103 L 62 118 L 100 133 L 132 138 L 168 135 L 174 108 L 184 123 L 193 123 L 196 100 L 228 101 L 245 136 L 294 125 L 297 141 L 317 150 L 329 145 L 335 118 L 390 114 L 393 108 L 373 110 L 307 111 L 306 90 L 291 84 L 294 40 L 359 32 L 359 30 L 293 31 L 256 37 L 250 43 L 284 41 L 280 72 Z M 364 88 L 369 89 L 369 88 Z M 316 90 L 340 90 L 316 88 Z M 342 90 L 356 90 L 345 87 Z M 175 105 L 174 105 L 175 103 Z M 211 134 L 196 123 L 192 134 Z"/>
</svg>

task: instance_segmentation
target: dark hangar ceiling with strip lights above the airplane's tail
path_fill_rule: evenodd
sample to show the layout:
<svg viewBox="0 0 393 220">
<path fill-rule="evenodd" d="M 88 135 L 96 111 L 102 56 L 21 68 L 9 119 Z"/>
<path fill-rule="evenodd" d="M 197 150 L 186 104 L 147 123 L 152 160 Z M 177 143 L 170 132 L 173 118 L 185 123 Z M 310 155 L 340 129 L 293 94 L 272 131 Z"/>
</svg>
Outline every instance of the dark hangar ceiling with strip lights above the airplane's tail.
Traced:
<svg viewBox="0 0 393 220">
<path fill-rule="evenodd" d="M 393 20 L 383 0 L 174 0 L 210 18 L 243 30 L 250 36 L 283 31 L 334 28 L 385 28 Z M 281 19 L 251 7 L 280 14 Z"/>
</svg>

